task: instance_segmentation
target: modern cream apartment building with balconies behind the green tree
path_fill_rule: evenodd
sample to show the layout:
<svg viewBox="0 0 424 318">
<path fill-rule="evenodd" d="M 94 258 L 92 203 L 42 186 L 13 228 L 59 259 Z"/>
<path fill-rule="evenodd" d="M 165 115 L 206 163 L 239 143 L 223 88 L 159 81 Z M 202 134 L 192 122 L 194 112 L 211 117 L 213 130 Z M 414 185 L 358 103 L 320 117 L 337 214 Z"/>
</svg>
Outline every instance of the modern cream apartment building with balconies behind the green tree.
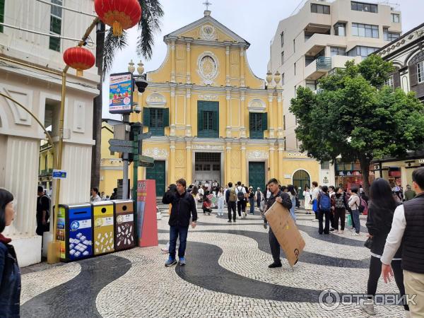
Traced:
<svg viewBox="0 0 424 318">
<path fill-rule="evenodd" d="M 350 59 L 360 62 L 400 35 L 401 13 L 396 7 L 351 0 L 308 0 L 298 13 L 278 23 L 268 70 L 281 74 L 285 151 L 299 147 L 296 119 L 288 107 L 296 88 L 317 90 L 322 76 Z M 317 181 L 329 185 L 334 177 L 322 170 Z"/>
</svg>

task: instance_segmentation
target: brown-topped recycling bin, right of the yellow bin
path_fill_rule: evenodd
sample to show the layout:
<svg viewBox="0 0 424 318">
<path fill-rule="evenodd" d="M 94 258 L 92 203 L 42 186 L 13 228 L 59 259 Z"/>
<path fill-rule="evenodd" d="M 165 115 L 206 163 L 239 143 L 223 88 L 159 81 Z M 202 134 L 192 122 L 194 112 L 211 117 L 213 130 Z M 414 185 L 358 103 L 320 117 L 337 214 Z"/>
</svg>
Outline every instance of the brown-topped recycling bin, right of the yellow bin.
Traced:
<svg viewBox="0 0 424 318">
<path fill-rule="evenodd" d="M 134 241 L 134 201 L 114 200 L 114 249 L 131 249 Z"/>
</svg>

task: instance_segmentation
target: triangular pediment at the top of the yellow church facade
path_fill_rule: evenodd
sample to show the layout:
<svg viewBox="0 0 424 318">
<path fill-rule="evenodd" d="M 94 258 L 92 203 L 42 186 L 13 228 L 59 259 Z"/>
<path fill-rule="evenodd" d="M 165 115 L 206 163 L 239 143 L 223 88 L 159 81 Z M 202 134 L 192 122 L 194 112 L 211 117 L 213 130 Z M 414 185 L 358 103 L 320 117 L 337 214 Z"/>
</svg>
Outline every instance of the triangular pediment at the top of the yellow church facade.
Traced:
<svg viewBox="0 0 424 318">
<path fill-rule="evenodd" d="M 164 40 L 168 42 L 171 39 L 184 37 L 213 42 L 236 42 L 238 44 L 244 44 L 247 47 L 249 46 L 249 42 L 211 16 L 204 16 L 204 18 L 196 20 L 169 35 L 165 35 Z"/>
</svg>

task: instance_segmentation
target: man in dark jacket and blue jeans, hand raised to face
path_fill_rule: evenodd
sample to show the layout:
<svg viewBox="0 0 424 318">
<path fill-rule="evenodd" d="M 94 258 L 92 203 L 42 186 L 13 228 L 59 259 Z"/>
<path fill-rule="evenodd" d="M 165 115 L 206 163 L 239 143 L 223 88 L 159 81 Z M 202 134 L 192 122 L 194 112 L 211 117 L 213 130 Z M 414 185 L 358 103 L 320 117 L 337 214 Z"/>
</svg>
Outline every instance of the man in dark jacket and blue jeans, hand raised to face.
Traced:
<svg viewBox="0 0 424 318">
<path fill-rule="evenodd" d="M 162 198 L 163 204 L 171 204 L 170 225 L 170 257 L 165 266 L 177 264 L 175 259 L 175 247 L 179 237 L 178 259 L 179 265 L 185 265 L 185 249 L 187 245 L 187 233 L 189 232 L 190 217 L 192 216 L 192 228 L 196 228 L 197 211 L 196 202 L 192 194 L 186 191 L 186 181 L 177 180 L 177 187 L 169 189 Z"/>
</svg>

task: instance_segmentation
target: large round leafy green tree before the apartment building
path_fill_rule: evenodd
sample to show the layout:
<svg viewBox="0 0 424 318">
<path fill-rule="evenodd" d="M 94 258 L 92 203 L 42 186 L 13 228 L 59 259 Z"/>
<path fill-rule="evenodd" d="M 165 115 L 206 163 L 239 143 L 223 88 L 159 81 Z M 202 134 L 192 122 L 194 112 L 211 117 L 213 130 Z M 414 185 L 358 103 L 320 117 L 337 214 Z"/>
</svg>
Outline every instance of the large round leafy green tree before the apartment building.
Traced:
<svg viewBox="0 0 424 318">
<path fill-rule="evenodd" d="M 338 155 L 359 160 L 368 194 L 373 159 L 399 157 L 423 145 L 424 105 L 414 93 L 384 86 L 394 68 L 377 55 L 345 66 L 319 81 L 321 93 L 299 87 L 290 112 L 298 119 L 300 150 L 320 161 Z"/>
</svg>

